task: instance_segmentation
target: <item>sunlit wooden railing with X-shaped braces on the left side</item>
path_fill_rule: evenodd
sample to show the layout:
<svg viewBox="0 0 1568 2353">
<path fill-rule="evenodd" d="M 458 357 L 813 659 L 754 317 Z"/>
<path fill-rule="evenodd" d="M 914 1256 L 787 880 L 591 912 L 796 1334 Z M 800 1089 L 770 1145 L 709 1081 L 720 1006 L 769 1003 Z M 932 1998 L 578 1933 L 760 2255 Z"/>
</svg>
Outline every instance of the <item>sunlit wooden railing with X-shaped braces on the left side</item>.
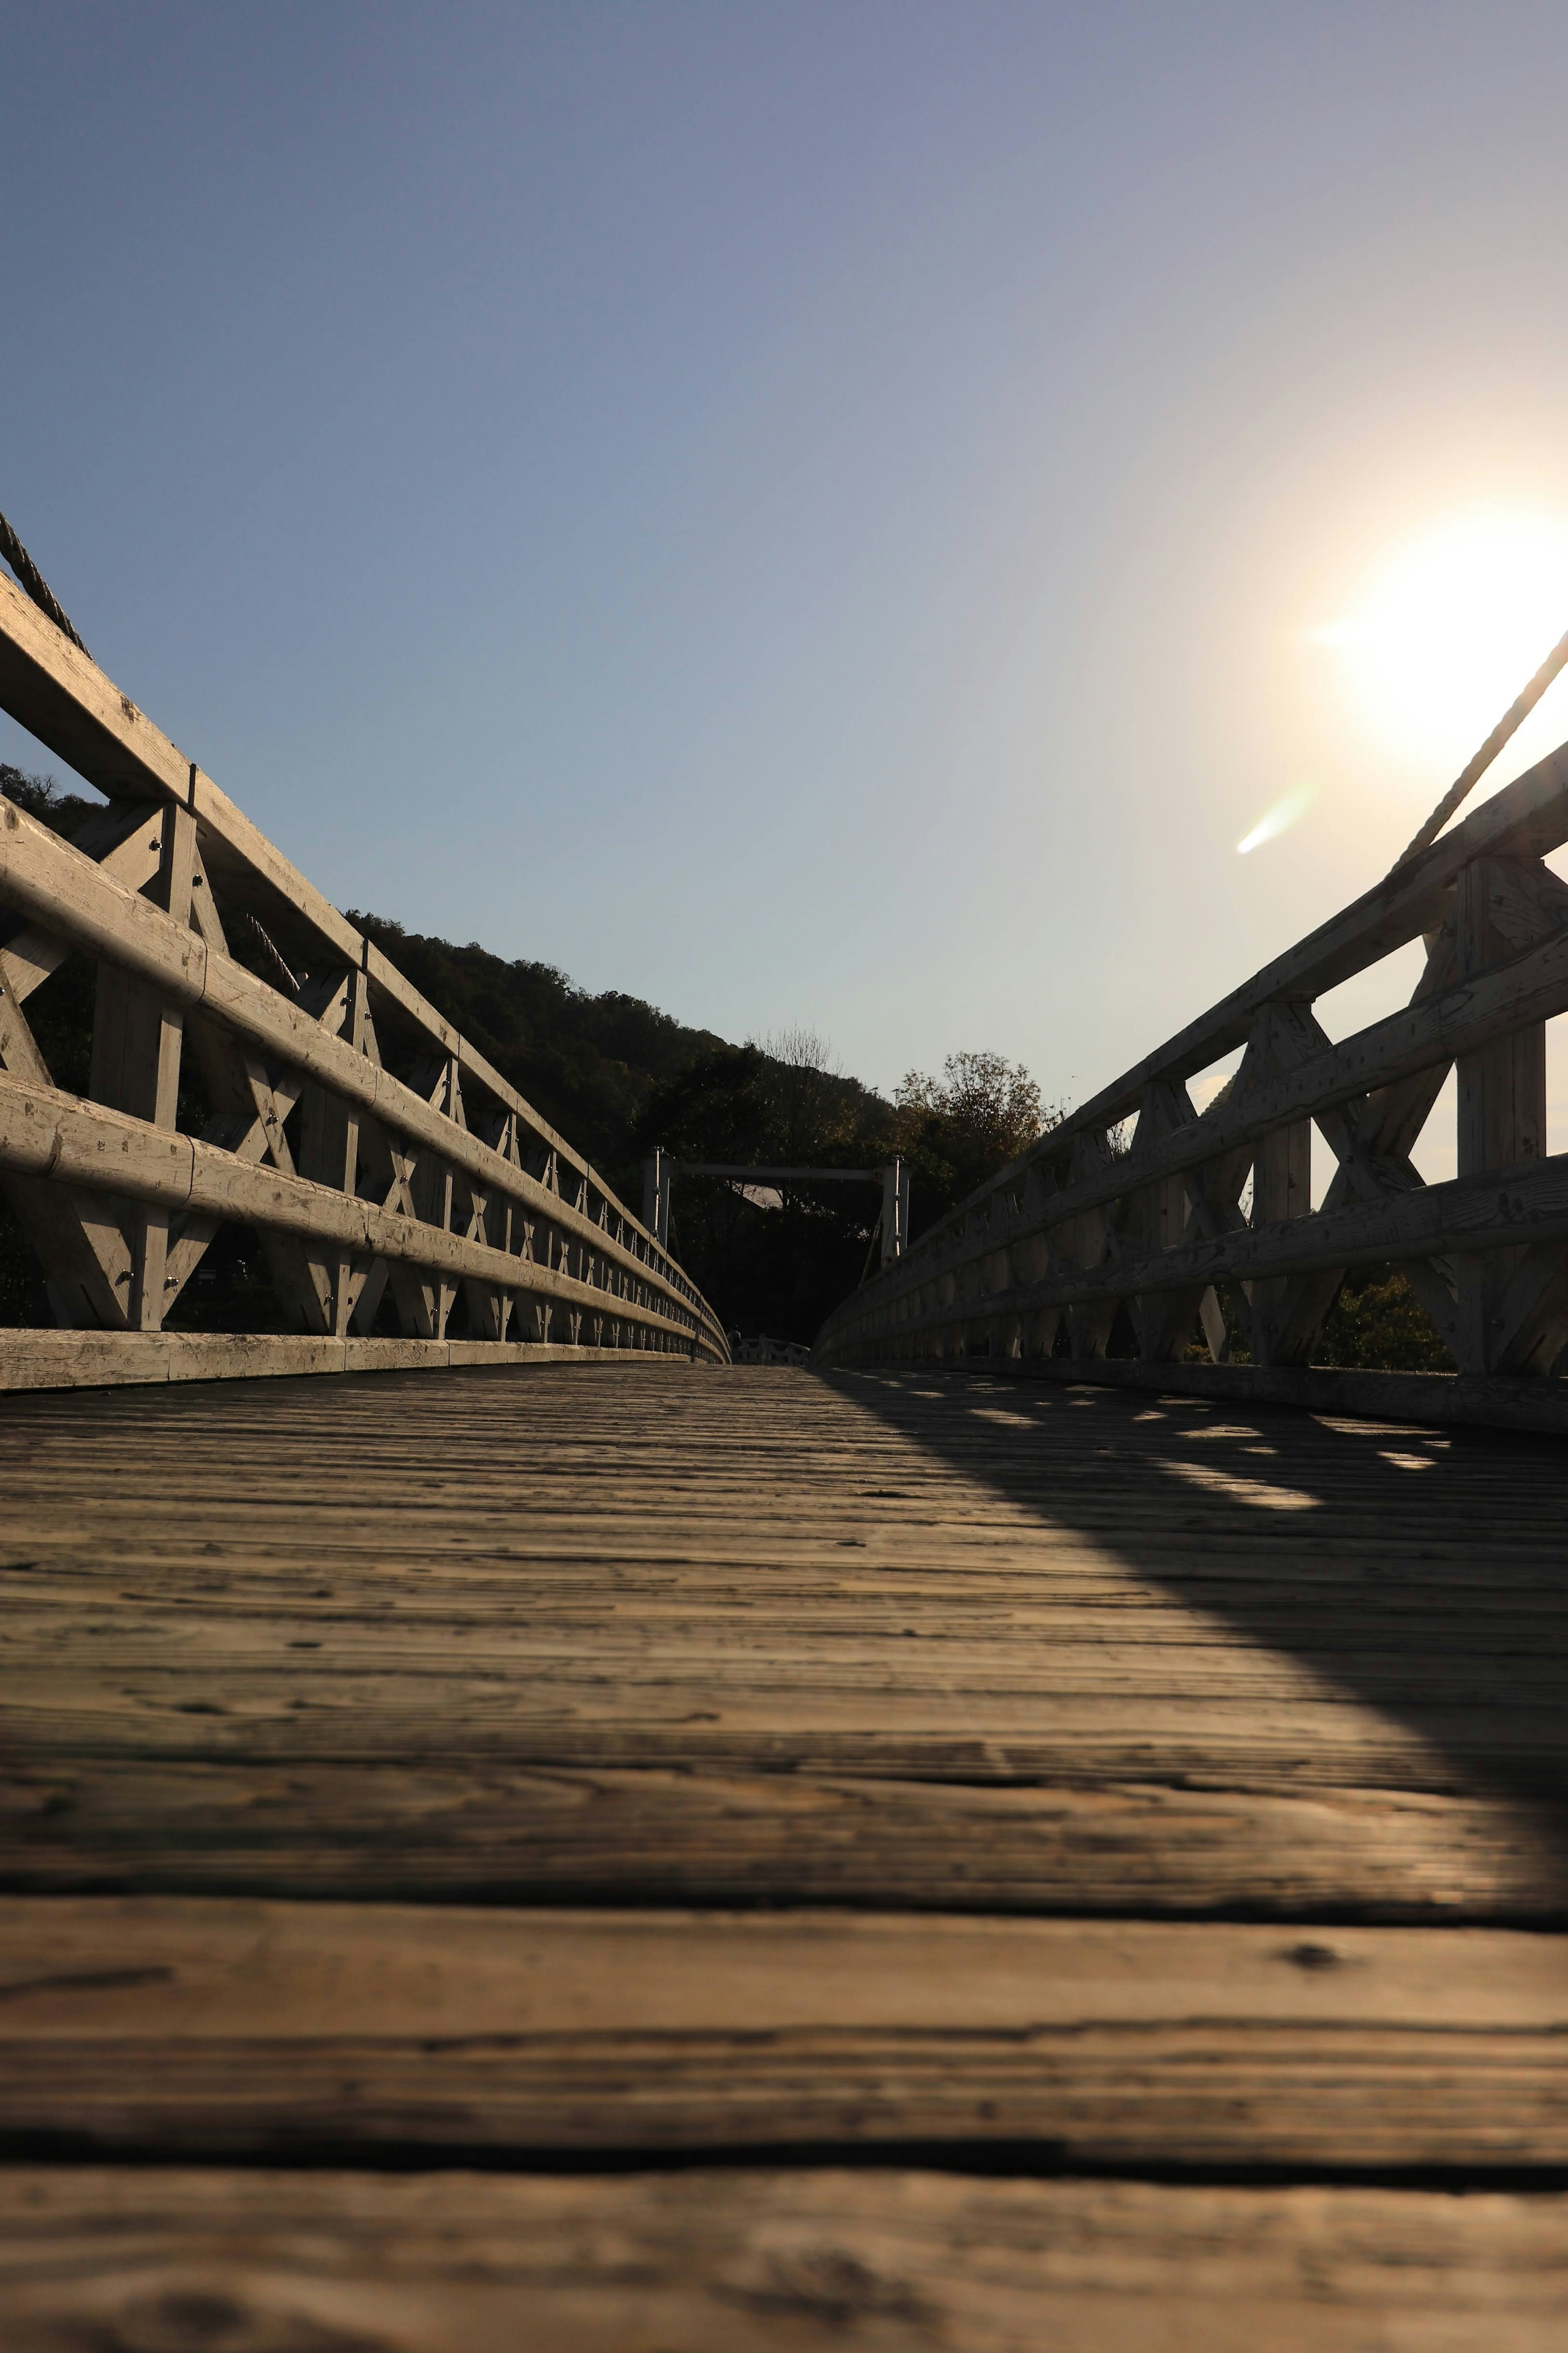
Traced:
<svg viewBox="0 0 1568 2353">
<path fill-rule="evenodd" d="M 0 1186 L 66 1327 L 0 1329 L 0 1386 L 729 1358 L 595 1169 L 2 576 L 0 708 L 108 795 L 73 842 L 0 800 Z M 73 953 L 96 960 L 85 1096 L 26 1016 Z M 294 1339 L 167 1332 L 226 1221 L 259 1233 Z M 388 1289 L 400 1337 L 369 1337 Z"/>
</svg>

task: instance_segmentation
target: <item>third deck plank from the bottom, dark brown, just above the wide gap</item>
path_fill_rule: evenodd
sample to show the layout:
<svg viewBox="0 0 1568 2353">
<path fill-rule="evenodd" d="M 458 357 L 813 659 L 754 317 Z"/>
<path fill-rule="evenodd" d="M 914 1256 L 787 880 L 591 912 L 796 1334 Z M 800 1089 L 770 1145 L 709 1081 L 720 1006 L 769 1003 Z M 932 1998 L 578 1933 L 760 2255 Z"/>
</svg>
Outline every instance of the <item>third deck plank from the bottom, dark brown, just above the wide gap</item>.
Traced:
<svg viewBox="0 0 1568 2353">
<path fill-rule="evenodd" d="M 1505 1800 L 1112 1779 L 976 1786 L 898 1779 L 891 1765 L 827 1774 L 806 1744 L 795 1772 L 63 1751 L 0 1772 L 0 1885 L 1293 1922 L 1568 1918 L 1568 1859 Z"/>
</svg>

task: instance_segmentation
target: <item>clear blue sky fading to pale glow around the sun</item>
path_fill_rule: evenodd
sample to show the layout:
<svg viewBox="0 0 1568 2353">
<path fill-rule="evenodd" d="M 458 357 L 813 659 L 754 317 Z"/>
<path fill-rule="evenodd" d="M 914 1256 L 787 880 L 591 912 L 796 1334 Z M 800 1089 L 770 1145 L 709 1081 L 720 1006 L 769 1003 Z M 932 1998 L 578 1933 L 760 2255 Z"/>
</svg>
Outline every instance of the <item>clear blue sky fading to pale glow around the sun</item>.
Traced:
<svg viewBox="0 0 1568 2353">
<path fill-rule="evenodd" d="M 1084 1094 L 1371 882 L 1495 713 L 1312 628 L 1568 515 L 1561 7 L 54 0 L 0 71 L 0 508 L 110 675 L 339 904 L 882 1085 Z"/>
</svg>

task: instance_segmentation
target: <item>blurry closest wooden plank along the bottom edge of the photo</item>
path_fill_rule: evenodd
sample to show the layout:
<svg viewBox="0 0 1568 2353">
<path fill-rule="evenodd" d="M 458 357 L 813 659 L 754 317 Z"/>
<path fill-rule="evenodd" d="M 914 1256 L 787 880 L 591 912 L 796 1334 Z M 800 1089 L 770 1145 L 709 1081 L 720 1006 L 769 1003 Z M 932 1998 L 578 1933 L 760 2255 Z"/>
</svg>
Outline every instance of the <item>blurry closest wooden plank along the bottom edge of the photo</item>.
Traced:
<svg viewBox="0 0 1568 2353">
<path fill-rule="evenodd" d="M 14 2353 L 1556 2353 L 1568 2200 L 893 2169 L 0 2169 Z"/>
</svg>

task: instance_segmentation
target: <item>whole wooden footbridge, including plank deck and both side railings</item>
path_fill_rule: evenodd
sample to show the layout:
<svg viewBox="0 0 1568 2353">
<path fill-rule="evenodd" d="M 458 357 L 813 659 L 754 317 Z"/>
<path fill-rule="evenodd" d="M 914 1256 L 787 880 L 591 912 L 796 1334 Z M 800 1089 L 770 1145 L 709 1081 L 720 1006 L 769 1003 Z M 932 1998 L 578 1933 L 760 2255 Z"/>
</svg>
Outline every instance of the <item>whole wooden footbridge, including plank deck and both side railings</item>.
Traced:
<svg viewBox="0 0 1568 2353">
<path fill-rule="evenodd" d="M 797 1372 L 5 581 L 0 701 L 0 2344 L 1566 2344 L 1568 753 Z"/>
</svg>

